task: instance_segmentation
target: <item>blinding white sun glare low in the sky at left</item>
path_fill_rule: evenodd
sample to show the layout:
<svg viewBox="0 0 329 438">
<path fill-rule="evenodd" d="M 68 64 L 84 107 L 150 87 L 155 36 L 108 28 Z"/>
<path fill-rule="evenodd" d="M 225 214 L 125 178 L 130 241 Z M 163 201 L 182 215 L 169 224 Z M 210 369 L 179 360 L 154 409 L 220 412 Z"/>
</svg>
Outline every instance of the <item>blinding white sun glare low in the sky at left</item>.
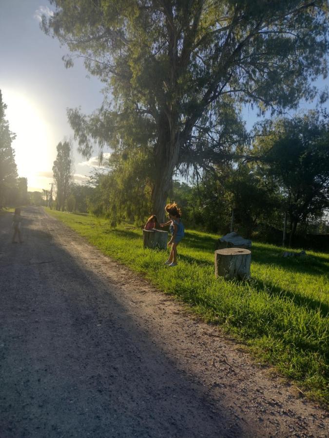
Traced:
<svg viewBox="0 0 329 438">
<path fill-rule="evenodd" d="M 54 160 L 49 123 L 28 95 L 2 90 L 2 99 L 7 105 L 9 128 L 16 133 L 13 147 L 19 176 L 28 179 L 29 189 L 47 188 L 50 181 L 40 177 L 39 172 L 50 170 Z"/>
</svg>

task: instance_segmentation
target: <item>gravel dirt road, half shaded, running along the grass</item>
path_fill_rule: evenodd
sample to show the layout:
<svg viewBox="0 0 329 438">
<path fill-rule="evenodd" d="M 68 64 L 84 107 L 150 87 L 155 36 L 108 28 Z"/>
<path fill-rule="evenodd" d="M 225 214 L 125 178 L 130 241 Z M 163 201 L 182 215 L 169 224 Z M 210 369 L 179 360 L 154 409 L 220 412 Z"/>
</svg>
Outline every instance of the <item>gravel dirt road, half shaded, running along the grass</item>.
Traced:
<svg viewBox="0 0 329 438">
<path fill-rule="evenodd" d="M 41 208 L 0 218 L 0 438 L 326 437 L 328 416 Z"/>
</svg>

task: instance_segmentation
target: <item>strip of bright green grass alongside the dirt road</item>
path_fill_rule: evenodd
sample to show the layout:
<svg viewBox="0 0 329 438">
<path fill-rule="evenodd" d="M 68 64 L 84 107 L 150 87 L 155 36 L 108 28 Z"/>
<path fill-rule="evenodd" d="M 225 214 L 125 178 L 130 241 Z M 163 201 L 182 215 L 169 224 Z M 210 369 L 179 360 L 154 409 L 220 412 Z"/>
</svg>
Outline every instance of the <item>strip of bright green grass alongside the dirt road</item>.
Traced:
<svg viewBox="0 0 329 438">
<path fill-rule="evenodd" d="M 47 211 L 243 341 L 257 360 L 275 365 L 310 398 L 329 402 L 329 254 L 289 259 L 280 247 L 254 242 L 252 279 L 225 281 L 214 277 L 214 234 L 188 230 L 178 246 L 178 266 L 171 269 L 163 265 L 165 252 L 143 248 L 141 229 L 113 229 L 105 219 Z"/>
</svg>

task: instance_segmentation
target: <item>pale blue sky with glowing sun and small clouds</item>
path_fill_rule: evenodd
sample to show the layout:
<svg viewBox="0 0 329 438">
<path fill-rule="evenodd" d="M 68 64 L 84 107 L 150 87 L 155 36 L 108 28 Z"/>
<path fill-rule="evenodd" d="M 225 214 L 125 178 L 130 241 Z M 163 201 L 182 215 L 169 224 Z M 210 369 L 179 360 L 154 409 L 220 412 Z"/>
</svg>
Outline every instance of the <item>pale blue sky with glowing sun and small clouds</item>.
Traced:
<svg viewBox="0 0 329 438">
<path fill-rule="evenodd" d="M 81 107 L 90 114 L 102 102 L 100 81 L 88 77 L 79 60 L 65 69 L 61 58 L 68 49 L 40 30 L 40 17 L 50 8 L 47 0 L 0 0 L 0 90 L 10 130 L 17 135 L 12 146 L 18 173 L 27 178 L 29 191 L 49 189 L 56 146 L 65 137 L 73 137 L 66 109 Z M 323 89 L 328 83 L 319 79 L 316 85 Z M 301 102 L 300 108 L 314 106 Z M 243 116 L 247 128 L 257 120 L 251 108 Z M 98 164 L 98 151 L 86 162 L 75 143 L 73 149 L 74 180 L 86 181 Z"/>
</svg>

